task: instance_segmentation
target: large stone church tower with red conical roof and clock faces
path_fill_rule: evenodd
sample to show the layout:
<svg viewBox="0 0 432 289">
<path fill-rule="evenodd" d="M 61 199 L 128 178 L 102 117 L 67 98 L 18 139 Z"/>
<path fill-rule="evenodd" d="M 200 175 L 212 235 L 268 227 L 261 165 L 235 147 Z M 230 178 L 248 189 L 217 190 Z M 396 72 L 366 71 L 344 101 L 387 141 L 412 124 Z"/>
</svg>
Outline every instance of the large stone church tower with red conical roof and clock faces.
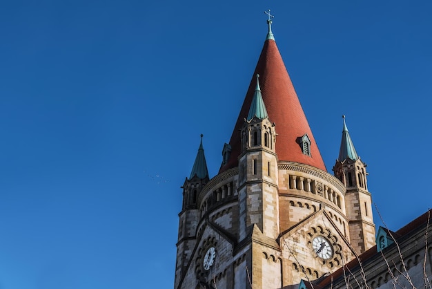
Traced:
<svg viewBox="0 0 432 289">
<path fill-rule="evenodd" d="M 183 186 L 175 288 L 299 288 L 374 245 L 366 165 L 346 129 L 328 174 L 271 30 L 219 173 Z"/>
</svg>

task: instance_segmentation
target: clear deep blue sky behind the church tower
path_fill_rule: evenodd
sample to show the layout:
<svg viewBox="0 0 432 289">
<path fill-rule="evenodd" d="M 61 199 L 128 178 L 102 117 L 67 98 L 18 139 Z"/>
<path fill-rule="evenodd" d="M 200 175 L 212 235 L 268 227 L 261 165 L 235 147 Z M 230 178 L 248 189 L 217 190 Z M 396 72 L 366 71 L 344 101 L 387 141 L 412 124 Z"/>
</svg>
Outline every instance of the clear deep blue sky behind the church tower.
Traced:
<svg viewBox="0 0 432 289">
<path fill-rule="evenodd" d="M 173 288 L 180 186 L 201 133 L 217 174 L 268 8 L 327 170 L 345 114 L 389 228 L 431 207 L 431 1 L 3 1 L 0 289 Z"/>
</svg>

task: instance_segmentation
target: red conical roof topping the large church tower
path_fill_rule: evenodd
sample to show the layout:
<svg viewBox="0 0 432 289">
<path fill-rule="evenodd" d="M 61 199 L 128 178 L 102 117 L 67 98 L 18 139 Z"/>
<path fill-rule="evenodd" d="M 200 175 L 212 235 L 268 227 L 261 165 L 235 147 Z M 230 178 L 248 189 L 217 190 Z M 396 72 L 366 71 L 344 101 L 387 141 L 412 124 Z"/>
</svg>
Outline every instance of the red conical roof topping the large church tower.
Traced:
<svg viewBox="0 0 432 289">
<path fill-rule="evenodd" d="M 242 110 L 235 124 L 233 135 L 230 139 L 231 154 L 226 165 L 219 172 L 237 167 L 240 147 L 240 129 L 247 118 L 249 108 L 255 92 L 255 75 L 259 74 L 262 98 L 266 105 L 268 119 L 276 124 L 276 153 L 279 160 L 300 162 L 326 171 L 326 166 L 321 158 L 320 151 L 313 138 L 308 120 L 302 109 L 302 105 L 295 93 L 294 86 L 286 71 L 282 57 L 277 49 L 276 42 L 267 39 L 259 56 L 257 67 L 253 73 L 251 84 L 243 102 Z M 311 140 L 311 156 L 302 152 L 297 138 L 307 133 Z"/>
</svg>

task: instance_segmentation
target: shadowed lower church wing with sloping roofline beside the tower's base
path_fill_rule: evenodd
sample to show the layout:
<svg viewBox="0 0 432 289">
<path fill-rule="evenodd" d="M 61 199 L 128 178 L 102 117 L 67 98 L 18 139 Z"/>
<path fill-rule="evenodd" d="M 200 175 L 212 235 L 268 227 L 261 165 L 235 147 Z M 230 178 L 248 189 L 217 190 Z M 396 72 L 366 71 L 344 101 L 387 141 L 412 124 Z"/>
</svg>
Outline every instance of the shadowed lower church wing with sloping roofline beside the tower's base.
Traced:
<svg viewBox="0 0 432 289">
<path fill-rule="evenodd" d="M 302 281 L 304 288 L 431 288 L 432 210 L 396 232 L 380 227 L 386 239 L 324 279 Z M 360 264 L 359 261 L 360 260 Z"/>
</svg>

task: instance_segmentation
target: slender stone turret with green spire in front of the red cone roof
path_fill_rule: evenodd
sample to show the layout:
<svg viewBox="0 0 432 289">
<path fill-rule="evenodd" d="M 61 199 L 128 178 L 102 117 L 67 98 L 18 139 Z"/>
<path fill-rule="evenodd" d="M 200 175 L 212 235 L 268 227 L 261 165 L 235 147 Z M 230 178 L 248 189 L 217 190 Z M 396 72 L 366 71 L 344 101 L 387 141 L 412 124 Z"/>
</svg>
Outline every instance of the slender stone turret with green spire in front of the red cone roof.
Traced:
<svg viewBox="0 0 432 289">
<path fill-rule="evenodd" d="M 259 75 L 247 118 L 240 131 L 239 199 L 246 209 L 240 216 L 241 241 L 254 224 L 264 236 L 275 239 L 279 234 L 279 218 L 264 212 L 277 207 L 277 155 L 275 124 L 268 119 L 259 88 Z M 256 209 L 259 208 L 259 209 Z"/>
</svg>

